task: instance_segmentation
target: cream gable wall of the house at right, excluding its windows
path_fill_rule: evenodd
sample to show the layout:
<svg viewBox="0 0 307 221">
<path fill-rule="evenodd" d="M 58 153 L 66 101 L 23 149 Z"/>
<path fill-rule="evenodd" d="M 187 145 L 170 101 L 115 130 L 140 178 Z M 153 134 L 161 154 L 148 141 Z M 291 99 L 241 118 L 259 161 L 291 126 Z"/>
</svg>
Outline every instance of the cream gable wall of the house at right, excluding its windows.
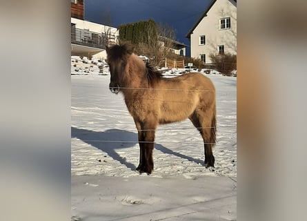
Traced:
<svg viewBox="0 0 307 221">
<path fill-rule="evenodd" d="M 230 17 L 230 28 L 221 30 L 219 20 Z M 199 36 L 206 36 L 206 44 L 199 45 Z M 211 63 L 209 55 L 218 54 L 218 46 L 224 45 L 224 52 L 237 54 L 237 7 L 229 0 L 217 0 L 190 35 L 191 57 L 206 54 L 206 64 Z"/>
</svg>

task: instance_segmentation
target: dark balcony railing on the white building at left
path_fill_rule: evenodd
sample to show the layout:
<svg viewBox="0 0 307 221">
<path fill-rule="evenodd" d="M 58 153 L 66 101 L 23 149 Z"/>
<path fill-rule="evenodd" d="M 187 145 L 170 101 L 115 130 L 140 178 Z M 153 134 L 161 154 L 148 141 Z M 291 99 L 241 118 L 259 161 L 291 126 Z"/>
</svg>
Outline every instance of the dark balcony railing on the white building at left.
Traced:
<svg viewBox="0 0 307 221">
<path fill-rule="evenodd" d="M 110 33 L 92 32 L 87 29 L 71 28 L 71 43 L 92 48 L 106 49 L 110 42 L 115 41 L 115 35 Z"/>
</svg>

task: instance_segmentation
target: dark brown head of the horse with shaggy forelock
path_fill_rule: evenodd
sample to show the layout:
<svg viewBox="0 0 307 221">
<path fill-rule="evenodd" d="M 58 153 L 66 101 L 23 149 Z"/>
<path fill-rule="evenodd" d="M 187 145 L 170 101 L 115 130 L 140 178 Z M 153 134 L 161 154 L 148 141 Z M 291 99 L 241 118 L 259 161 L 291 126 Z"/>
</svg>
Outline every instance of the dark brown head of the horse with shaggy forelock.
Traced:
<svg viewBox="0 0 307 221">
<path fill-rule="evenodd" d="M 132 55 L 133 48 L 126 44 L 115 45 L 110 48 L 106 47 L 106 52 L 111 75 L 109 88 L 112 93 L 117 94 L 120 88 L 123 87 L 127 61 L 130 55 Z"/>
</svg>

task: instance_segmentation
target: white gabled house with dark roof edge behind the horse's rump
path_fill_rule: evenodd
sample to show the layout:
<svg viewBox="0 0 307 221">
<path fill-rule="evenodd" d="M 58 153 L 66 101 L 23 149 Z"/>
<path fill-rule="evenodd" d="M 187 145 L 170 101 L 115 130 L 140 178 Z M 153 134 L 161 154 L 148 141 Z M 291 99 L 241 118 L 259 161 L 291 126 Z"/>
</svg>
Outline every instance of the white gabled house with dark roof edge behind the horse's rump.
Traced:
<svg viewBox="0 0 307 221">
<path fill-rule="evenodd" d="M 210 54 L 237 55 L 237 0 L 213 0 L 186 35 L 191 57 L 210 64 Z"/>
</svg>

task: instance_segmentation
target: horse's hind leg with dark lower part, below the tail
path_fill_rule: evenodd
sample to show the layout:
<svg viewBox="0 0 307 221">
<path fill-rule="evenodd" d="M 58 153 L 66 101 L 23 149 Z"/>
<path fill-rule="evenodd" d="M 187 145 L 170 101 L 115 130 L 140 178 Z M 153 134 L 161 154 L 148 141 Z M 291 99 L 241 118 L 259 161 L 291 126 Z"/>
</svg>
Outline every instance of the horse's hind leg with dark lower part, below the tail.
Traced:
<svg viewBox="0 0 307 221">
<path fill-rule="evenodd" d="M 210 119 L 211 118 L 211 119 Z M 190 121 L 197 128 L 201 137 L 204 140 L 204 152 L 205 152 L 205 166 L 213 170 L 215 167 L 215 157 L 212 153 L 212 147 L 215 146 L 215 115 L 209 115 L 208 113 L 192 113 L 189 117 Z"/>
</svg>

